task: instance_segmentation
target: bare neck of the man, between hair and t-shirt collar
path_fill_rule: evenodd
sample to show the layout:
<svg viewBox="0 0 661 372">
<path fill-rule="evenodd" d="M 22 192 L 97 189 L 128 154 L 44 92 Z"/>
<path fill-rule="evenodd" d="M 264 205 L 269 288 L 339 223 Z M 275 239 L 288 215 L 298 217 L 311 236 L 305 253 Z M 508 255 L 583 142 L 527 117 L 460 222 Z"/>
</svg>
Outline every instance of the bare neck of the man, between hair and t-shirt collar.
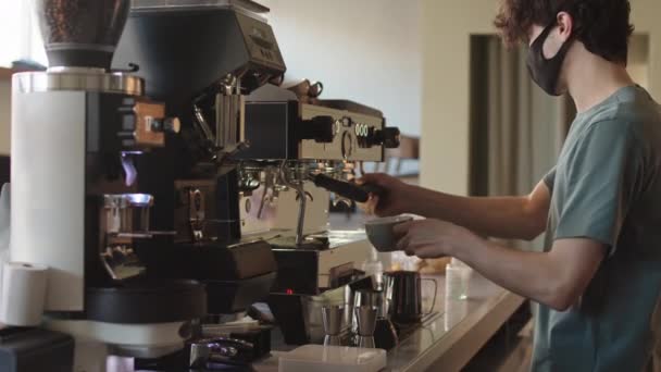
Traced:
<svg viewBox="0 0 661 372">
<path fill-rule="evenodd" d="M 566 79 L 569 92 L 578 112 L 585 112 L 621 88 L 635 84 L 623 65 L 587 51 L 581 53 L 581 61 L 574 61 L 573 65 L 568 71 Z"/>
</svg>

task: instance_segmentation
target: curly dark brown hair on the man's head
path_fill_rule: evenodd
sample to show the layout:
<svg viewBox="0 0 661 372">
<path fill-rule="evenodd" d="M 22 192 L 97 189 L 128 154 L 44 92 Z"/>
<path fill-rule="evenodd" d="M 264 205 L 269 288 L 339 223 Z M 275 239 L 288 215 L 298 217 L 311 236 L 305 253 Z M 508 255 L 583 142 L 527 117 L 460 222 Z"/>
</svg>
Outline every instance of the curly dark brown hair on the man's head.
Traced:
<svg viewBox="0 0 661 372">
<path fill-rule="evenodd" d="M 574 20 L 574 37 L 603 59 L 626 63 L 629 23 L 628 0 L 501 0 L 494 24 L 508 46 L 527 42 L 533 25 L 548 26 L 559 12 Z"/>
</svg>

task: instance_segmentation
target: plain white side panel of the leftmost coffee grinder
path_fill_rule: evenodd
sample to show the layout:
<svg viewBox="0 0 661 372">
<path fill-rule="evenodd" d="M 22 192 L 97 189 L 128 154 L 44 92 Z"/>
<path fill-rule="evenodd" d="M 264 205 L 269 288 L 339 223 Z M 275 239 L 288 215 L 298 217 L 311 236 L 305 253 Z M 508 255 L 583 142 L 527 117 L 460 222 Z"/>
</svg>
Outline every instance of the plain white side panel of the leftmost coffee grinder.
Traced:
<svg viewBox="0 0 661 372">
<path fill-rule="evenodd" d="M 22 77 L 42 74 L 20 74 Z M 12 97 L 12 260 L 49 266 L 47 311 L 82 311 L 85 92 Z"/>
</svg>

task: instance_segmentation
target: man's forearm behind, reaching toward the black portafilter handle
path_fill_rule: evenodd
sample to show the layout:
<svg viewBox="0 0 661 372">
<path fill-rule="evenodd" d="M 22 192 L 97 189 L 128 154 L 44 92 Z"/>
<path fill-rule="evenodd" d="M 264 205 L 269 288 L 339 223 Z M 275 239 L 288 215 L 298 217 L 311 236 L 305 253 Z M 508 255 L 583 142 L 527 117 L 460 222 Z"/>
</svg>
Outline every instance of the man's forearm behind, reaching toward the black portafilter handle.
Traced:
<svg viewBox="0 0 661 372">
<path fill-rule="evenodd" d="M 411 213 L 452 222 L 483 236 L 532 239 L 544 231 L 546 218 L 533 215 L 527 202 L 526 197 L 458 197 L 416 187 L 409 206 Z"/>
</svg>

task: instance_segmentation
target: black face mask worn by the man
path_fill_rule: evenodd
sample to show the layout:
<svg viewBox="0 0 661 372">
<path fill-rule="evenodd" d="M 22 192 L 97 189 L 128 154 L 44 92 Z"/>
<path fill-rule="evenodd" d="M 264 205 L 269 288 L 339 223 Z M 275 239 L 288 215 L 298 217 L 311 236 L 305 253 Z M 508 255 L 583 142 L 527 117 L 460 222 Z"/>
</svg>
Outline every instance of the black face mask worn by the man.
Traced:
<svg viewBox="0 0 661 372">
<path fill-rule="evenodd" d="M 558 80 L 560 79 L 562 64 L 573 41 L 572 39 L 564 41 L 554 57 L 550 59 L 544 57 L 544 44 L 556 26 L 557 23 L 553 22 L 548 25 L 541 32 L 541 34 L 539 34 L 539 36 L 531 45 L 527 57 L 527 65 L 531 77 L 541 89 L 544 89 L 544 91 L 551 96 L 562 95 L 562 92 L 558 91 Z"/>
</svg>

